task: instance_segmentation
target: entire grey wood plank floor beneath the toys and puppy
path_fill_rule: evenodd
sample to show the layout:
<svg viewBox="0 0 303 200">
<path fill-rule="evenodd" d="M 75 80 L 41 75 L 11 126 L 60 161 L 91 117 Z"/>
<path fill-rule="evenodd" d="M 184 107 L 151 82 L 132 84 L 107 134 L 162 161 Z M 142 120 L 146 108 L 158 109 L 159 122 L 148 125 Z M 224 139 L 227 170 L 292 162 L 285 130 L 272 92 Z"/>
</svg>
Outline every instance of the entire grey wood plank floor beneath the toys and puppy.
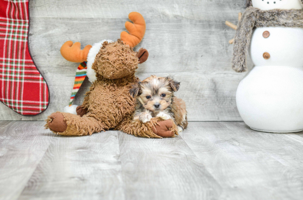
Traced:
<svg viewBox="0 0 303 200">
<path fill-rule="evenodd" d="M 303 133 L 190 122 L 179 137 L 62 137 L 0 121 L 0 199 L 302 199 Z"/>
</svg>

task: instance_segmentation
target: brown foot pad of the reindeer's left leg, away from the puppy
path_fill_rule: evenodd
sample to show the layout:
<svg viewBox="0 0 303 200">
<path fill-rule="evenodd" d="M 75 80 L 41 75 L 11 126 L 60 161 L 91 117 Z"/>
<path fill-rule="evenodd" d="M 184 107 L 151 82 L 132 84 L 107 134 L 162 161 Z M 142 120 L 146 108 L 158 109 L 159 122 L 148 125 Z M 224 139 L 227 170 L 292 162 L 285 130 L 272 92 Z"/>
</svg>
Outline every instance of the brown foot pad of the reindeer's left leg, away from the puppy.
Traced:
<svg viewBox="0 0 303 200">
<path fill-rule="evenodd" d="M 67 129 L 64 116 L 60 112 L 55 112 L 49 116 L 48 128 L 57 133 L 63 133 Z"/>
</svg>

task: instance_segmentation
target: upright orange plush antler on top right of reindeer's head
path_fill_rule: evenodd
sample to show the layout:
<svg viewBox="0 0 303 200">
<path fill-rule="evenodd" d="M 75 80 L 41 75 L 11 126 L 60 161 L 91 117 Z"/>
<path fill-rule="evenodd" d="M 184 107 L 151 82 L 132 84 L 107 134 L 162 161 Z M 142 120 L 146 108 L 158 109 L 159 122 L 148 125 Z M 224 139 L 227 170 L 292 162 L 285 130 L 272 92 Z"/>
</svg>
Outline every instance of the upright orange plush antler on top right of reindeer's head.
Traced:
<svg viewBox="0 0 303 200">
<path fill-rule="evenodd" d="M 145 34 L 145 20 L 143 16 L 137 12 L 131 12 L 128 15 L 128 18 L 133 22 L 125 22 L 125 28 L 130 34 L 126 31 L 122 31 L 120 38 L 125 44 L 135 47 L 141 42 Z"/>
</svg>

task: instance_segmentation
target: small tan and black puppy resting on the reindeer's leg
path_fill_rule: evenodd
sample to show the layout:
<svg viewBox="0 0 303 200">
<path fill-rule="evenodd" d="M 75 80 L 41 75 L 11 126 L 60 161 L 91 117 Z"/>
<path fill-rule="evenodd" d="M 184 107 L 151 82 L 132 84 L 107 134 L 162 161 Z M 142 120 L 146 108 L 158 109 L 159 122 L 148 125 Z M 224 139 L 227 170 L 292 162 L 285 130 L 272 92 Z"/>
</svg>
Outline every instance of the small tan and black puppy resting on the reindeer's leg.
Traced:
<svg viewBox="0 0 303 200">
<path fill-rule="evenodd" d="M 178 126 L 178 132 L 183 131 L 188 124 L 187 111 L 185 102 L 174 96 L 179 87 L 180 82 L 171 77 L 154 75 L 133 85 L 130 95 L 137 99 L 133 120 L 145 123 L 153 117 L 172 119 Z"/>
</svg>

